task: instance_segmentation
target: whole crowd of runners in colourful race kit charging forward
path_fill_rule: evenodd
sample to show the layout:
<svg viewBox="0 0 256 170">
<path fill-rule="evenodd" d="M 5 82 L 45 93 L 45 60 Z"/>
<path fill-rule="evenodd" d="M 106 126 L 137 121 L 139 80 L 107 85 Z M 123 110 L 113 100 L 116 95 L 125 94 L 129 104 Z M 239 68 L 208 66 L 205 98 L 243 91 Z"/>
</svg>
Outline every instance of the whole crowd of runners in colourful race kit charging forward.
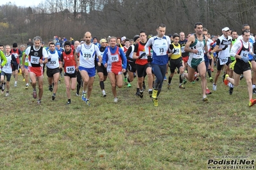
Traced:
<svg viewBox="0 0 256 170">
<path fill-rule="evenodd" d="M 108 36 L 108 38 L 92 38 L 86 32 L 80 41 L 73 38 L 65 40 L 53 37 L 47 45 L 40 36 L 29 40 L 27 47 L 17 43 L 0 45 L 1 83 L 0 89 L 5 96 L 9 96 L 10 79 L 14 77 L 14 87 L 17 84 L 19 72 L 25 82 L 25 89 L 31 84 L 33 98 L 37 104 L 43 96 L 44 69 L 48 81 L 52 100 L 55 100 L 60 77 L 64 77 L 67 104 L 71 104 L 71 90 L 76 89 L 85 104 L 90 105 L 90 96 L 96 73 L 99 77 L 99 87 L 103 97 L 107 96 L 105 81 L 111 83 L 114 102 L 118 102 L 117 89 L 123 85 L 131 88 L 131 82 L 136 81 L 135 95 L 144 97 L 147 79 L 148 95 L 153 105 L 158 106 L 158 96 L 164 81 L 167 89 L 173 86 L 173 76 L 178 73 L 180 89 L 185 89 L 187 81 L 194 83 L 201 79 L 203 102 L 207 102 L 207 95 L 212 92 L 207 86 L 207 79 L 212 82 L 212 90 L 217 90 L 218 77 L 223 73 L 223 83 L 229 87 L 232 95 L 234 86 L 239 85 L 241 79 L 246 80 L 249 95 L 249 106 L 256 104 L 253 94 L 256 94 L 256 43 L 250 33 L 250 26 L 241 27 L 241 35 L 235 30 L 223 27 L 223 35 L 211 36 L 203 24 L 194 24 L 194 33 L 175 33 L 166 35 L 166 26 L 156 27 L 157 35 L 147 35 L 140 31 L 132 39 Z M 217 73 L 213 77 L 214 65 Z M 170 73 L 168 73 L 168 71 Z M 166 77 L 167 75 L 167 77 Z M 208 75 L 208 78 L 207 78 Z M 37 92 L 38 84 L 38 92 Z"/>
</svg>

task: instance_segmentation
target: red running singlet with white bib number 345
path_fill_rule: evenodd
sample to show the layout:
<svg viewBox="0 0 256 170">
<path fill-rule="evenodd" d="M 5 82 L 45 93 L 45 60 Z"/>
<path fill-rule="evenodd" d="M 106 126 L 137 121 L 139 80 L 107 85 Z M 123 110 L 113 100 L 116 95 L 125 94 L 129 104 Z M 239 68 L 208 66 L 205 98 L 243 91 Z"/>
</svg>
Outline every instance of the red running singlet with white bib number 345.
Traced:
<svg viewBox="0 0 256 170">
<path fill-rule="evenodd" d="M 71 50 L 69 54 L 62 52 L 65 73 L 74 73 L 76 70 L 76 60 L 74 59 L 74 50 Z"/>
</svg>

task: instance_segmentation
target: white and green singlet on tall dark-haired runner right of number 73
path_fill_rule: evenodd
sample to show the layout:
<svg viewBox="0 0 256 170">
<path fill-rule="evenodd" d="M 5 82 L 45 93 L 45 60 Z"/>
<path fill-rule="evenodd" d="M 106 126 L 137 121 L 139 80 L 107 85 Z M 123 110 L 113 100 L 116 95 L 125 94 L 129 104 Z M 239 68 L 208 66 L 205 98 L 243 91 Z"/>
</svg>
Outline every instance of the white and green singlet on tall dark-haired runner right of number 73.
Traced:
<svg viewBox="0 0 256 170">
<path fill-rule="evenodd" d="M 191 49 L 196 49 L 198 52 L 194 54 L 193 52 L 189 52 L 189 58 L 204 58 L 204 50 L 205 50 L 205 36 L 203 36 L 203 41 L 198 40 L 196 35 L 194 35 L 195 41 L 189 47 Z"/>
</svg>

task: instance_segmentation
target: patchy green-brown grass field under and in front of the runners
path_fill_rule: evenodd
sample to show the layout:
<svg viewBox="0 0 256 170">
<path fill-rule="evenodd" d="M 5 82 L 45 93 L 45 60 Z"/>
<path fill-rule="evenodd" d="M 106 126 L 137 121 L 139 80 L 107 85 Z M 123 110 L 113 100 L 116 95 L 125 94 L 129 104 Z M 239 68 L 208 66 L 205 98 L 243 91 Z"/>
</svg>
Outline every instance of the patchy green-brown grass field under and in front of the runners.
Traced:
<svg viewBox="0 0 256 170">
<path fill-rule="evenodd" d="M 244 79 L 233 95 L 219 79 L 201 102 L 200 81 L 179 89 L 175 75 L 158 107 L 147 93 L 135 97 L 135 82 L 117 89 L 114 104 L 109 80 L 103 98 L 96 76 L 91 107 L 75 91 L 65 105 L 63 78 L 52 101 L 45 76 L 41 105 L 24 85 L 20 75 L 14 88 L 12 77 L 10 96 L 0 93 L 0 169 L 207 169 L 221 156 L 256 158 L 256 105 L 248 107 Z"/>
</svg>

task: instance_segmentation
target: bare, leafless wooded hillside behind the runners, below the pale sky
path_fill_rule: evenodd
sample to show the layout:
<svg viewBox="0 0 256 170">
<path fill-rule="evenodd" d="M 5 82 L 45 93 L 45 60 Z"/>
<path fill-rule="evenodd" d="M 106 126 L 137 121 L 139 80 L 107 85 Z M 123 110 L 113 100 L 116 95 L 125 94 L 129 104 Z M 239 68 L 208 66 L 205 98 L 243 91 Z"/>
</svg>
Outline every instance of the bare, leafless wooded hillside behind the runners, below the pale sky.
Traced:
<svg viewBox="0 0 256 170">
<path fill-rule="evenodd" d="M 223 27 L 241 34 L 249 24 L 256 33 L 256 1 L 247 0 L 46 0 L 33 7 L 7 3 L 0 6 L 0 43 L 27 43 L 40 35 L 80 40 L 86 31 L 92 36 L 133 38 L 141 30 L 156 34 L 157 25 L 166 24 L 166 34 L 194 32 L 202 22 L 211 35 L 221 35 Z"/>
</svg>

